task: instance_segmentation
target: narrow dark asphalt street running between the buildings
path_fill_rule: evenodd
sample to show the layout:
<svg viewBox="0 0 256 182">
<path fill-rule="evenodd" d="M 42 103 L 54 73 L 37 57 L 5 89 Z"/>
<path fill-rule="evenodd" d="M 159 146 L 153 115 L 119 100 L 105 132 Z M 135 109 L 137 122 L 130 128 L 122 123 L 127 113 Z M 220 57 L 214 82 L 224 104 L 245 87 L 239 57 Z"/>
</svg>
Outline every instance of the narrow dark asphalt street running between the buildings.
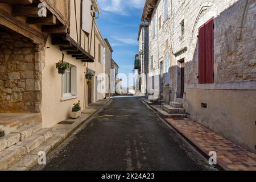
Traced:
<svg viewBox="0 0 256 182">
<path fill-rule="evenodd" d="M 43 170 L 207 170 L 204 159 L 143 104 L 113 98 Z M 54 154 L 54 156 L 53 156 Z M 48 160 L 50 158 L 51 160 Z"/>
</svg>

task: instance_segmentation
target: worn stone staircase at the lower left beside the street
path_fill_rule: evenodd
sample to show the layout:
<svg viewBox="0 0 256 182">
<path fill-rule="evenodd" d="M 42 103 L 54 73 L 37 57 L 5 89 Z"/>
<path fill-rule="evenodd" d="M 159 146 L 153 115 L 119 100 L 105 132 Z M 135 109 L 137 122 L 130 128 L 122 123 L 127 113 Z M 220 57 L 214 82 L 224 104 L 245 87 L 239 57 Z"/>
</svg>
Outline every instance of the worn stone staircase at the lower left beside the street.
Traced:
<svg viewBox="0 0 256 182">
<path fill-rule="evenodd" d="M 0 138 L 0 171 L 29 170 L 38 163 L 38 152 L 51 150 L 47 144 L 55 129 L 42 129 L 42 124 L 32 124 L 12 131 Z"/>
</svg>

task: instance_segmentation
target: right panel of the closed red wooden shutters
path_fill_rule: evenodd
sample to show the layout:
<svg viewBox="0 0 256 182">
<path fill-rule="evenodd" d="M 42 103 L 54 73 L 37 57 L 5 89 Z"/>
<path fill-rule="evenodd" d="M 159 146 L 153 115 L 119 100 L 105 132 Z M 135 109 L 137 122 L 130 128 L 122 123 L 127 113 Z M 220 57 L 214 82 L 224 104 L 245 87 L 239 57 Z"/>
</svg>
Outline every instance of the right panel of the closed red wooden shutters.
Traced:
<svg viewBox="0 0 256 182">
<path fill-rule="evenodd" d="M 205 23 L 205 84 L 213 84 L 213 65 L 214 65 L 214 32 L 213 18 Z"/>
</svg>

